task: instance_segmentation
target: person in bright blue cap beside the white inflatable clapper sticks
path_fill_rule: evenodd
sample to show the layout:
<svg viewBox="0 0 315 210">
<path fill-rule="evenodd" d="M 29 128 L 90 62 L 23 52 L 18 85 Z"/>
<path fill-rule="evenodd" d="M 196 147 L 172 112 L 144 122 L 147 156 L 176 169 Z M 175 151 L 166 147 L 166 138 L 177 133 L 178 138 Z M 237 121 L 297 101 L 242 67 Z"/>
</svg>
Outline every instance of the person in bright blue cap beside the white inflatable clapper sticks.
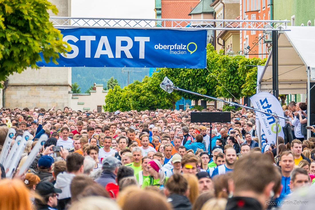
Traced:
<svg viewBox="0 0 315 210">
<path fill-rule="evenodd" d="M 53 181 L 53 174 L 51 173 L 51 165 L 54 163 L 54 158 L 52 156 L 43 155 L 38 159 L 37 162 L 37 175 L 40 181 Z"/>
</svg>

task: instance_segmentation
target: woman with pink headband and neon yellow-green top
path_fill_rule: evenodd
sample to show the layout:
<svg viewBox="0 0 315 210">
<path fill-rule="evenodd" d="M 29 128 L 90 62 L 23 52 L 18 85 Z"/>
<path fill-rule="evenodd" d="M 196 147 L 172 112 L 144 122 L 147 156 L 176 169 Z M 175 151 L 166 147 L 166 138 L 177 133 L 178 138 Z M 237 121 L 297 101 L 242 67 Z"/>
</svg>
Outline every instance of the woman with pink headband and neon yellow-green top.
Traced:
<svg viewBox="0 0 315 210">
<path fill-rule="evenodd" d="M 157 160 L 152 160 L 148 163 L 148 171 L 150 176 L 143 180 L 141 188 L 146 186 L 157 186 L 160 189 L 164 189 L 164 185 L 168 177 L 165 176 L 165 173 L 161 170 L 162 165 Z"/>
</svg>

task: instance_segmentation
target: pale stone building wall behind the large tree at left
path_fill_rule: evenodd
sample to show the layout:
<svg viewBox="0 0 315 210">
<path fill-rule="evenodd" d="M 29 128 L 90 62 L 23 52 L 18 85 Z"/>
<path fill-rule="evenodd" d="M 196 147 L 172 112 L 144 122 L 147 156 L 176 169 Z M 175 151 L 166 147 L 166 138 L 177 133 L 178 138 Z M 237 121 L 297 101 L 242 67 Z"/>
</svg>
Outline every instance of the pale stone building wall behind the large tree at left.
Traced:
<svg viewBox="0 0 315 210">
<path fill-rule="evenodd" d="M 51 0 L 59 13 L 51 16 L 71 17 L 71 0 Z M 38 70 L 27 68 L 22 73 L 8 77 L 5 90 L 5 107 L 62 109 L 70 105 L 71 68 L 43 67 Z"/>
</svg>

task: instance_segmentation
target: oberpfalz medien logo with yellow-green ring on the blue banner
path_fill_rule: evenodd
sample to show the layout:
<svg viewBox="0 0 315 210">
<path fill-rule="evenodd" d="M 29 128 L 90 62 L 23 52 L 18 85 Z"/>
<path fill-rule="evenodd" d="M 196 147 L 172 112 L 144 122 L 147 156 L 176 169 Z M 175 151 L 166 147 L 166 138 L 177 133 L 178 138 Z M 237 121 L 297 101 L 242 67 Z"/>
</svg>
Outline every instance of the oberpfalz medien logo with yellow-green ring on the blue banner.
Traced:
<svg viewBox="0 0 315 210">
<path fill-rule="evenodd" d="M 169 50 L 169 54 L 187 54 L 187 51 L 193 54 L 197 50 L 197 44 L 194 42 L 173 45 L 159 43 L 154 45 L 154 48 L 158 50 Z"/>
</svg>

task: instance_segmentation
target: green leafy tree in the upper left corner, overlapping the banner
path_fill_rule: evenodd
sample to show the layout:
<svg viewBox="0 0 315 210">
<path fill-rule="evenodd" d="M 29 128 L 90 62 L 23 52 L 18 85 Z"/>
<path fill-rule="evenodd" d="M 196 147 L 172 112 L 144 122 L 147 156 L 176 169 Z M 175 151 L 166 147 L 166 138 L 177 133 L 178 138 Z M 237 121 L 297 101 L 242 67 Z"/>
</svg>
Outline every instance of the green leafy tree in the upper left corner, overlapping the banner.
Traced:
<svg viewBox="0 0 315 210">
<path fill-rule="evenodd" d="M 58 13 L 47 0 L 0 0 L 0 81 L 29 66 L 38 68 L 39 52 L 46 62 L 57 63 L 58 53 L 70 51 L 49 22 L 49 9 Z"/>
</svg>

